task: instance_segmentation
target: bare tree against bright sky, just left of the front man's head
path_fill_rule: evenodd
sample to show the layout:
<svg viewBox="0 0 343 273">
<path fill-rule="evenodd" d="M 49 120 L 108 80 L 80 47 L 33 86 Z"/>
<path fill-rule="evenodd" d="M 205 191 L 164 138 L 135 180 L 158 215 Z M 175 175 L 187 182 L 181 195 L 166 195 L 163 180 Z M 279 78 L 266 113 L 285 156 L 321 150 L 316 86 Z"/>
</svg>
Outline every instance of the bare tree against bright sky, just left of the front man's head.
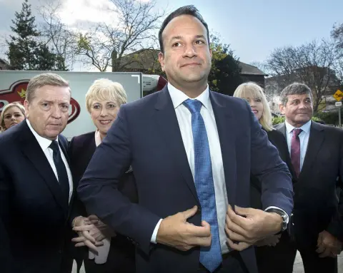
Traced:
<svg viewBox="0 0 343 273">
<path fill-rule="evenodd" d="M 108 8 L 108 11 L 114 14 L 116 21 L 97 24 L 85 36 L 79 36 L 83 39 L 78 42 L 79 53 L 89 58 L 100 71 L 106 71 L 109 66 L 112 71 L 123 71 L 137 61 L 127 54 L 149 48 L 151 41 L 156 41 L 154 32 L 161 25 L 164 11 L 156 11 L 156 0 L 109 1 L 115 8 Z"/>
</svg>

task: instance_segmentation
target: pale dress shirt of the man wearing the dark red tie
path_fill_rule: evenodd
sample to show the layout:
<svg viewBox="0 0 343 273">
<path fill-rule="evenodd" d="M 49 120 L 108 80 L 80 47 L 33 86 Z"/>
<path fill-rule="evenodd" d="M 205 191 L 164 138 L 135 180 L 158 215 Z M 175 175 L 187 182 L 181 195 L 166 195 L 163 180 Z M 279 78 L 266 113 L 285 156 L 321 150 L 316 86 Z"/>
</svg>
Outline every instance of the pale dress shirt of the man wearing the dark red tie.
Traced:
<svg viewBox="0 0 343 273">
<path fill-rule="evenodd" d="M 287 136 L 287 145 L 289 150 L 289 155 L 291 154 L 291 147 L 292 147 L 292 136 L 293 136 L 293 129 L 294 126 L 284 122 L 286 125 L 286 136 Z M 299 140 L 300 140 L 300 170 L 302 170 L 302 165 L 304 164 L 304 159 L 307 151 L 307 145 L 309 144 L 309 132 L 311 130 L 311 120 L 307 123 L 299 127 L 302 129 L 302 133 L 299 133 Z"/>
</svg>

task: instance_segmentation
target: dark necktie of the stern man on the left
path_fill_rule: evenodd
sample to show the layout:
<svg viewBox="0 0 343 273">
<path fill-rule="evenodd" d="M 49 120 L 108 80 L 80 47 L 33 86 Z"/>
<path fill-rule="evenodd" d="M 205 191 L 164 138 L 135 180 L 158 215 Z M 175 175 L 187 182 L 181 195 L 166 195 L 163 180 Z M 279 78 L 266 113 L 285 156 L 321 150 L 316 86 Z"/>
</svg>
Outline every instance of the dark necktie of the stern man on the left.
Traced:
<svg viewBox="0 0 343 273">
<path fill-rule="evenodd" d="M 69 204 L 69 179 L 66 172 L 66 165 L 61 157 L 61 152 L 59 150 L 59 144 L 56 140 L 53 140 L 49 145 L 49 148 L 53 150 L 52 157 L 54 158 L 55 167 L 57 170 L 57 176 L 59 177 L 59 185 L 61 186 L 62 194 L 65 198 L 65 202 Z"/>
</svg>

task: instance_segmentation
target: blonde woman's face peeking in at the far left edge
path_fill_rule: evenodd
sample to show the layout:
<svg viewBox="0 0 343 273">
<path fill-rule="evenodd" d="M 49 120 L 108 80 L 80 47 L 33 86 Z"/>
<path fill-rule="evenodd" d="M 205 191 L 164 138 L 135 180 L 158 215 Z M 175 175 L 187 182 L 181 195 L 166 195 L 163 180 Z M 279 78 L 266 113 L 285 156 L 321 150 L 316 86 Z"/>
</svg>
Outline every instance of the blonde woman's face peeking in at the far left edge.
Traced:
<svg viewBox="0 0 343 273">
<path fill-rule="evenodd" d="M 25 108 L 21 103 L 7 104 L 1 112 L 1 132 L 11 128 L 25 119 Z"/>
</svg>

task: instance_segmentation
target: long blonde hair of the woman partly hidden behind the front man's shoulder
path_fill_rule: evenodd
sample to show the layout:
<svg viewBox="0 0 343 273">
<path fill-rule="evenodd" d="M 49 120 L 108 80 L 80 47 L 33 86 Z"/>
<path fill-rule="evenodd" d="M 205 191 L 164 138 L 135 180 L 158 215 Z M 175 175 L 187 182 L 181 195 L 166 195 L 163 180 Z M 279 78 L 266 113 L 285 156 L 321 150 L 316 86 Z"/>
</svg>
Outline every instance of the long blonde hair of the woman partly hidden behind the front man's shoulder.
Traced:
<svg viewBox="0 0 343 273">
<path fill-rule="evenodd" d="M 252 81 L 242 83 L 236 88 L 236 91 L 234 91 L 234 97 L 252 99 L 259 98 L 263 104 L 263 113 L 259 119 L 259 123 L 267 132 L 274 130 L 272 125 L 272 112 L 270 111 L 266 95 L 264 95 L 264 91 L 261 86 Z"/>
</svg>

